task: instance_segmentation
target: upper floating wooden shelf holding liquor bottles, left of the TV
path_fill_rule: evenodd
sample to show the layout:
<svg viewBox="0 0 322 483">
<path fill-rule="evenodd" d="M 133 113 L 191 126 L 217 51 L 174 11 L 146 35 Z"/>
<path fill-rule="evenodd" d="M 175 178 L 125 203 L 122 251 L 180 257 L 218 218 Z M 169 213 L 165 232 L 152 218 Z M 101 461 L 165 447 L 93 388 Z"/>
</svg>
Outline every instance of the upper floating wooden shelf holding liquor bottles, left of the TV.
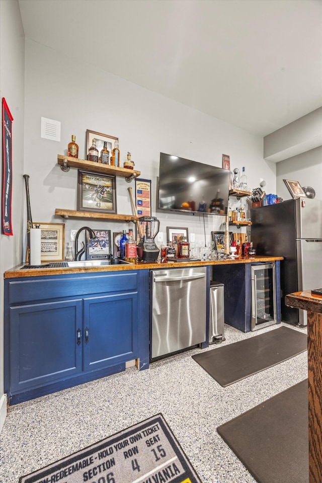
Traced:
<svg viewBox="0 0 322 483">
<path fill-rule="evenodd" d="M 87 171 L 95 171 L 95 173 L 101 173 L 102 175 L 116 175 L 126 178 L 126 180 L 132 180 L 140 176 L 140 171 L 128 170 L 126 168 L 117 168 L 116 166 L 103 165 L 102 163 L 93 163 L 93 161 L 86 161 L 85 159 L 78 159 L 77 157 L 62 156 L 58 154 L 57 163 L 61 166 L 63 171 L 67 171 L 67 168 L 79 168 Z"/>
</svg>

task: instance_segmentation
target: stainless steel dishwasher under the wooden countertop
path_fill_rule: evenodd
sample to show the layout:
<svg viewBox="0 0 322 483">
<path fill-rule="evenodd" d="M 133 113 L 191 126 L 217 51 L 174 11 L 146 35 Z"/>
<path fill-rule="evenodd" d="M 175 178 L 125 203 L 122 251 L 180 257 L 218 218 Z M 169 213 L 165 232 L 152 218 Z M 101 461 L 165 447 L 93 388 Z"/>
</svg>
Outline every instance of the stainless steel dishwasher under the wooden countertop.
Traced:
<svg viewBox="0 0 322 483">
<path fill-rule="evenodd" d="M 206 340 L 206 267 L 151 271 L 151 359 Z"/>
</svg>

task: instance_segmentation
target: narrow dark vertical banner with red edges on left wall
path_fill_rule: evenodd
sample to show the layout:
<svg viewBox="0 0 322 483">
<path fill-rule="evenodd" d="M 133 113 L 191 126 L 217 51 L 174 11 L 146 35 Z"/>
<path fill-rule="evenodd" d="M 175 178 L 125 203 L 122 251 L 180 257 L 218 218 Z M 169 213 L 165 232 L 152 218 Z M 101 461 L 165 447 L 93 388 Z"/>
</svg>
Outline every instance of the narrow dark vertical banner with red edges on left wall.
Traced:
<svg viewBox="0 0 322 483">
<path fill-rule="evenodd" d="M 2 228 L 5 235 L 13 235 L 11 220 L 12 202 L 12 121 L 6 99 L 2 98 L 2 146 L 3 146 L 3 174 L 2 174 Z"/>
</svg>

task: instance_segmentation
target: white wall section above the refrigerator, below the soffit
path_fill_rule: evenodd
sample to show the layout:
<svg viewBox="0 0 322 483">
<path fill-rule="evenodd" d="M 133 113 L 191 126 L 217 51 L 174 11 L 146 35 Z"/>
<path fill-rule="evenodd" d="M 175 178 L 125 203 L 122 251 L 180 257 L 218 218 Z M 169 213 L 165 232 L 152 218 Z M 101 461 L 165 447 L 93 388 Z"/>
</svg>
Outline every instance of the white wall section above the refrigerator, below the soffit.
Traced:
<svg viewBox="0 0 322 483">
<path fill-rule="evenodd" d="M 298 181 L 301 186 L 311 186 L 316 199 L 322 200 L 322 146 L 277 163 L 277 192 L 284 200 L 290 200 L 292 197 L 283 180 Z"/>
</svg>

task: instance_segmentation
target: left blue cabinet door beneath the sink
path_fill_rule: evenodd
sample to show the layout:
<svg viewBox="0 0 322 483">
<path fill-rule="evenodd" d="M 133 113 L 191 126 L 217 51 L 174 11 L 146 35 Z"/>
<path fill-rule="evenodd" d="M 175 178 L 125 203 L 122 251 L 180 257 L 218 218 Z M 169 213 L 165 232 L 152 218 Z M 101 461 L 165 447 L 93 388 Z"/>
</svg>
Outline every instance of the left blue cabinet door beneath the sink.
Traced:
<svg viewBox="0 0 322 483">
<path fill-rule="evenodd" d="M 39 387 L 82 371 L 79 321 L 82 300 L 10 308 L 11 391 Z"/>
</svg>

